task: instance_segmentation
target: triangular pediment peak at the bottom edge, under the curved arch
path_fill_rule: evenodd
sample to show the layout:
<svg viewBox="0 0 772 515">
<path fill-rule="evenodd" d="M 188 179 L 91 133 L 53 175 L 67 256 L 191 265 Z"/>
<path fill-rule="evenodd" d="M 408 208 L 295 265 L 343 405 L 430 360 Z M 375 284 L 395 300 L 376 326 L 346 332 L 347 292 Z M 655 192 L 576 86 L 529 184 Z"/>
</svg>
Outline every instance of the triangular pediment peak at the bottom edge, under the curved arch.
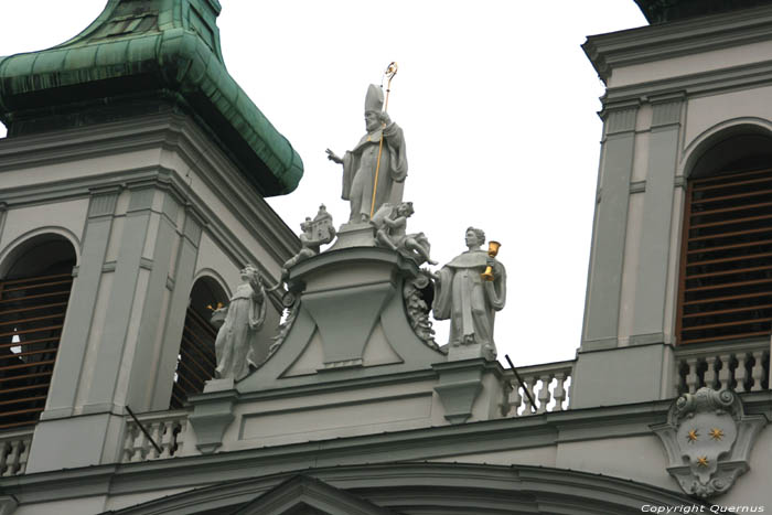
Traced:
<svg viewBox="0 0 772 515">
<path fill-rule="evenodd" d="M 318 479 L 297 475 L 234 515 L 395 515 Z"/>
</svg>

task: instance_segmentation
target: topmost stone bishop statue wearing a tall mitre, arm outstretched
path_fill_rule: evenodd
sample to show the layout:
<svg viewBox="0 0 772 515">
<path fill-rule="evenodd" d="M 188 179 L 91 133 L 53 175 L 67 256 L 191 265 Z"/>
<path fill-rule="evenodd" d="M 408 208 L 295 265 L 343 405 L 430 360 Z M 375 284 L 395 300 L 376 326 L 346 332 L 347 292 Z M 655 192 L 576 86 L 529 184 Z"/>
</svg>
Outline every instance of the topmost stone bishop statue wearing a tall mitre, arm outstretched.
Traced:
<svg viewBox="0 0 772 515">
<path fill-rule="evenodd" d="M 371 213 L 377 212 L 384 203 L 397 205 L 403 200 L 407 176 L 405 138 L 403 129 L 392 121 L 388 114 L 383 110 L 383 90 L 371 84 L 365 97 L 367 133 L 342 159 L 332 150 L 326 150 L 328 159 L 343 164 L 341 196 L 351 202 L 350 223 L 368 222 Z M 377 184 L 375 184 L 376 169 L 378 170 Z M 373 203 L 373 190 L 375 190 L 375 203 Z"/>
</svg>

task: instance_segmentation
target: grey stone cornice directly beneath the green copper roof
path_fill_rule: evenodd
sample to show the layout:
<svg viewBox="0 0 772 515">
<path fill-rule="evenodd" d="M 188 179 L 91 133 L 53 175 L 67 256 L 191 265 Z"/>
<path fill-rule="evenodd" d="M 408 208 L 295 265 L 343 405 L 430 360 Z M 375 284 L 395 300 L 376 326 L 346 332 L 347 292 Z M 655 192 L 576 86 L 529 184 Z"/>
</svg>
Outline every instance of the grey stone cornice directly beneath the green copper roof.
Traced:
<svg viewBox="0 0 772 515">
<path fill-rule="evenodd" d="M 253 234 L 265 240 L 265 249 L 281 264 L 292 256 L 298 247 L 296 234 L 283 223 L 274 210 L 260 197 L 255 189 L 240 176 L 235 167 L 214 144 L 207 141 L 201 130 L 186 117 L 170 112 L 143 117 L 129 122 L 105 124 L 98 130 L 92 128 L 69 129 L 54 135 L 17 137 L 0 140 L 0 174 L 4 171 L 25 170 L 34 167 L 52 165 L 99 157 L 115 155 L 154 148 L 165 148 L 179 152 L 185 163 L 196 171 L 202 182 L 226 205 Z M 158 168 L 144 170 L 152 174 Z M 131 171 L 133 174 L 136 169 Z M 18 189 L 4 190 L 3 199 L 9 204 L 17 202 L 40 202 L 45 199 L 87 196 L 87 187 L 104 181 L 121 184 L 127 171 L 115 171 L 97 176 L 74 178 L 52 181 Z M 172 174 L 173 175 L 173 174 Z M 114 176 L 114 180 L 109 178 Z M 174 181 L 193 195 L 182 180 Z M 197 199 L 196 208 L 212 214 L 205 203 Z M 222 229 L 227 229 L 222 227 Z M 219 230 L 222 233 L 222 230 Z M 229 232 L 229 230 L 228 230 Z M 233 237 L 235 239 L 235 236 Z M 239 253 L 239 260 L 250 253 Z M 278 280 L 278 279 L 277 279 Z M 276 280 L 274 281 L 276 282 Z"/>
</svg>

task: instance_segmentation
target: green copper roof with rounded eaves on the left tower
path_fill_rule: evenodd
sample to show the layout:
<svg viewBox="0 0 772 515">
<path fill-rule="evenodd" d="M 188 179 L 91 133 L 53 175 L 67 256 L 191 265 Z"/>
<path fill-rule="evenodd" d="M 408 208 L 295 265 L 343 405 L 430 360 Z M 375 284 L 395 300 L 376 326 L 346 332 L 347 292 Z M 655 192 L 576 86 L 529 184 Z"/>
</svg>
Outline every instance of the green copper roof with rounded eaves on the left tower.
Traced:
<svg viewBox="0 0 772 515">
<path fill-rule="evenodd" d="M 147 111 L 162 100 L 193 115 L 264 195 L 291 192 L 302 161 L 225 69 L 219 11 L 217 0 L 109 0 L 72 40 L 0 57 L 9 137 Z"/>
</svg>

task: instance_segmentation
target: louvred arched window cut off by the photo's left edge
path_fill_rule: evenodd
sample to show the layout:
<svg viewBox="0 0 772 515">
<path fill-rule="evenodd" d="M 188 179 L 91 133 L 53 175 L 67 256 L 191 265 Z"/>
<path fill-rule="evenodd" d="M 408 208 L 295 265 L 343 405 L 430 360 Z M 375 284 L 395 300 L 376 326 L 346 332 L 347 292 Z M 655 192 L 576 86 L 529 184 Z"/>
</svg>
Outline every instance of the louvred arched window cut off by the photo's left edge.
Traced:
<svg viewBox="0 0 772 515">
<path fill-rule="evenodd" d="M 73 283 L 75 251 L 61 236 L 32 238 L 0 279 L 0 429 L 37 421 L 45 408 Z"/>
</svg>

